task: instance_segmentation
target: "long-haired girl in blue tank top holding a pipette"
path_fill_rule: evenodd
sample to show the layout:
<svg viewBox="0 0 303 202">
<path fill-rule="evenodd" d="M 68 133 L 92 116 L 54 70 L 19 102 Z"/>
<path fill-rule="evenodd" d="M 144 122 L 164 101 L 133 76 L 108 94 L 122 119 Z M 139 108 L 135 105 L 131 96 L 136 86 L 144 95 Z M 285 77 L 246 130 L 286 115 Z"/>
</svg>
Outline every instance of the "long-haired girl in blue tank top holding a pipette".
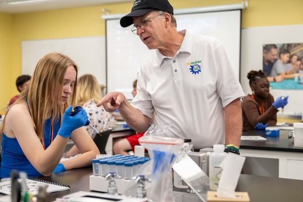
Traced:
<svg viewBox="0 0 303 202">
<path fill-rule="evenodd" d="M 99 154 L 82 127 L 88 120 L 85 110 L 71 116 L 77 72 L 76 64 L 59 53 L 39 60 L 28 87 L 9 108 L 0 128 L 1 178 L 10 177 L 13 169 L 36 177 L 86 167 Z M 58 164 L 69 138 L 81 155 Z"/>
</svg>

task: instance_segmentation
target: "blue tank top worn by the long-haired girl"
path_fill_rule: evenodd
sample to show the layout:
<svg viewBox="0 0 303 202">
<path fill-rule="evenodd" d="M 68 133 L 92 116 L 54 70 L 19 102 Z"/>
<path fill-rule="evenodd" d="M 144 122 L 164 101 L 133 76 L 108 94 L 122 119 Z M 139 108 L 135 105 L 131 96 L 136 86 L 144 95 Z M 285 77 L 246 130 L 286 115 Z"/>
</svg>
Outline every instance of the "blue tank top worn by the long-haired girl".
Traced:
<svg viewBox="0 0 303 202">
<path fill-rule="evenodd" d="M 45 148 L 51 143 L 51 121 L 52 119 L 47 119 L 44 125 Z M 53 140 L 57 136 L 59 128 L 59 122 L 56 121 L 54 123 Z M 2 133 L 1 157 L 0 178 L 10 177 L 13 169 L 26 172 L 28 177 L 42 176 L 25 157 L 17 138 L 7 137 L 4 133 Z"/>
</svg>

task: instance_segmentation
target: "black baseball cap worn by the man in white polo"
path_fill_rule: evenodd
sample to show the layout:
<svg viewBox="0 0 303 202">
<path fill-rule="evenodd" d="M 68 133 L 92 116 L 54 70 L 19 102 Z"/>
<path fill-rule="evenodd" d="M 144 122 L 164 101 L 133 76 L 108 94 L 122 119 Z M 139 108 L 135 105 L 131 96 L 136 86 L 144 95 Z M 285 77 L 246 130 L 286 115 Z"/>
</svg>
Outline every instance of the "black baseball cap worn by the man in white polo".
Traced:
<svg viewBox="0 0 303 202">
<path fill-rule="evenodd" d="M 145 15 L 153 10 L 165 11 L 174 15 L 174 8 L 167 0 L 136 0 L 131 12 L 120 19 L 120 25 L 128 27 L 134 23 L 132 17 Z"/>
</svg>

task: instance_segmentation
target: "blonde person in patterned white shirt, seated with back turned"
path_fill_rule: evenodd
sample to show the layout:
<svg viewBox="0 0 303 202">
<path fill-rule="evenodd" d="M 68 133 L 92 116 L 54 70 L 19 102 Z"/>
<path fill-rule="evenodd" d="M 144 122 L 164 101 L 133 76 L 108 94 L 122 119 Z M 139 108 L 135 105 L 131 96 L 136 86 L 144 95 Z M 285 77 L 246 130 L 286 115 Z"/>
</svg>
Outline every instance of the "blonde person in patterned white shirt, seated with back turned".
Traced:
<svg viewBox="0 0 303 202">
<path fill-rule="evenodd" d="M 101 88 L 96 77 L 91 74 L 84 74 L 78 78 L 76 105 L 83 107 L 90 124 L 99 132 L 107 130 L 110 123 L 110 113 L 105 111 L 103 107 L 96 107 L 101 98 Z M 84 128 L 93 139 L 96 132 L 89 126 Z M 70 150 L 63 154 L 63 158 L 70 158 L 78 154 L 80 154 L 80 150 L 76 145 L 73 145 Z"/>
</svg>

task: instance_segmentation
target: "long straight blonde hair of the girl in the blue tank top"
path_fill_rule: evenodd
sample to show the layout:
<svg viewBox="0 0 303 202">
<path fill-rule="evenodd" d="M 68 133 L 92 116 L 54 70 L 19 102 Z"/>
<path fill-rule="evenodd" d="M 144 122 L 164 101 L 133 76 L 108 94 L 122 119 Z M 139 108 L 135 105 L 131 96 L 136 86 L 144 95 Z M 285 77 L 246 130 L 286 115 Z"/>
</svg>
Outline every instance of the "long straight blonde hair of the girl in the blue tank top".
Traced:
<svg viewBox="0 0 303 202">
<path fill-rule="evenodd" d="M 72 87 L 72 94 L 62 106 L 61 99 L 64 76 L 69 66 L 76 70 L 76 82 Z M 67 56 L 60 53 L 49 53 L 43 56 L 36 65 L 28 87 L 21 93 L 13 105 L 26 101 L 32 118 L 33 126 L 38 137 L 44 129 L 47 112 L 52 110 L 52 122 L 61 120 L 65 109 L 74 105 L 77 90 L 77 65 Z M 10 109 L 9 109 L 10 110 Z M 8 113 L 9 110 L 6 112 Z M 6 118 L 6 117 L 5 117 Z M 0 128 L 1 137 L 5 119 Z"/>
</svg>

